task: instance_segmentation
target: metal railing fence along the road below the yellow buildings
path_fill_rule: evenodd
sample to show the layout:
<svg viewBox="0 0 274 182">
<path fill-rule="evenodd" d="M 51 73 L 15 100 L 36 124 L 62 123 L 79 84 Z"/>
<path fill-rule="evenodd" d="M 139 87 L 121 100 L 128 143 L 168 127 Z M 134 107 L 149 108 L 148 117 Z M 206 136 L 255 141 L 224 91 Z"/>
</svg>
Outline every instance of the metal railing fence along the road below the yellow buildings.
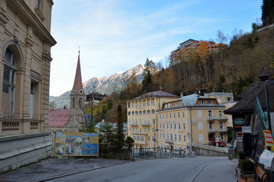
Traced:
<svg viewBox="0 0 274 182">
<path fill-rule="evenodd" d="M 132 149 L 132 158 L 143 159 L 143 158 L 169 158 L 169 157 L 196 157 L 195 152 L 186 154 L 185 150 L 173 150 L 161 149 L 161 148 L 134 148 Z"/>
</svg>

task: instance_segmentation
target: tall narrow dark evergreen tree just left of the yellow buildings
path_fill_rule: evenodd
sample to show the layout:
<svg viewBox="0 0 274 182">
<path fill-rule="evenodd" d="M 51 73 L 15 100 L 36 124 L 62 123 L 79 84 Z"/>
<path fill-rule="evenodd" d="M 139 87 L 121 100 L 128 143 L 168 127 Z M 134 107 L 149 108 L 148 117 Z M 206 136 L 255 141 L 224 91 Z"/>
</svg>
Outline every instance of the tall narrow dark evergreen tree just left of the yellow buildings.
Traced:
<svg viewBox="0 0 274 182">
<path fill-rule="evenodd" d="M 117 145 L 116 147 L 121 149 L 124 145 L 124 134 L 123 134 L 123 110 L 122 106 L 119 104 L 118 105 L 118 110 L 117 110 Z"/>
</svg>

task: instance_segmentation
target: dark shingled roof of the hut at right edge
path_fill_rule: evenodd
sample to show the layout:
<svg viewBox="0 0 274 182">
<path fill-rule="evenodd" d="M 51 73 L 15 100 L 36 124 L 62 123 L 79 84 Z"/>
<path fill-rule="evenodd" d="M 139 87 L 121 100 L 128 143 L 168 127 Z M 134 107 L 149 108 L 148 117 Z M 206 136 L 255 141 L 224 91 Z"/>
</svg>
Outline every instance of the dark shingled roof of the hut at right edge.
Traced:
<svg viewBox="0 0 274 182">
<path fill-rule="evenodd" d="M 253 112 L 253 108 L 256 104 L 256 97 L 260 101 L 262 110 L 266 110 L 266 97 L 264 87 L 269 87 L 269 104 L 274 104 L 274 81 L 271 82 L 254 82 L 245 91 L 238 95 L 240 99 L 234 106 L 225 110 L 225 114 L 233 114 L 237 112 Z M 271 94 L 272 93 L 272 94 Z"/>
</svg>

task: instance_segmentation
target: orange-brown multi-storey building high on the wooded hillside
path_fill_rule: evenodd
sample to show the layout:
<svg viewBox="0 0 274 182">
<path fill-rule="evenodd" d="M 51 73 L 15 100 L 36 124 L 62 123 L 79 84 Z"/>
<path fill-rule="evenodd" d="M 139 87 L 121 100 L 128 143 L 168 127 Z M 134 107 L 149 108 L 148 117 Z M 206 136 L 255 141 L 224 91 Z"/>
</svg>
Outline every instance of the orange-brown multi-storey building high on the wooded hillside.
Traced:
<svg viewBox="0 0 274 182">
<path fill-rule="evenodd" d="M 191 52 L 197 52 L 199 46 L 206 45 L 207 53 L 219 51 L 221 48 L 227 48 L 227 44 L 216 44 L 213 41 L 203 41 L 203 40 L 186 40 L 179 44 L 176 50 L 173 50 L 170 55 L 171 63 L 177 63 L 179 61 L 186 61 L 186 59 L 191 55 Z"/>
</svg>

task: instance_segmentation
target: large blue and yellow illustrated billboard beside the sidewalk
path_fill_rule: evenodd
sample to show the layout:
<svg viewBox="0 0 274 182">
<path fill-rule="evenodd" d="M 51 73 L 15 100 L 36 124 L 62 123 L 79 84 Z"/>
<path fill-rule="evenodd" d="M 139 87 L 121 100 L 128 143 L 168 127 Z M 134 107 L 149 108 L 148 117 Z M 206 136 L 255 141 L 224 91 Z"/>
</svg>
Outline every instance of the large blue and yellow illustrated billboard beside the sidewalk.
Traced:
<svg viewBox="0 0 274 182">
<path fill-rule="evenodd" d="M 56 132 L 55 156 L 99 156 L 99 134 Z"/>
</svg>

